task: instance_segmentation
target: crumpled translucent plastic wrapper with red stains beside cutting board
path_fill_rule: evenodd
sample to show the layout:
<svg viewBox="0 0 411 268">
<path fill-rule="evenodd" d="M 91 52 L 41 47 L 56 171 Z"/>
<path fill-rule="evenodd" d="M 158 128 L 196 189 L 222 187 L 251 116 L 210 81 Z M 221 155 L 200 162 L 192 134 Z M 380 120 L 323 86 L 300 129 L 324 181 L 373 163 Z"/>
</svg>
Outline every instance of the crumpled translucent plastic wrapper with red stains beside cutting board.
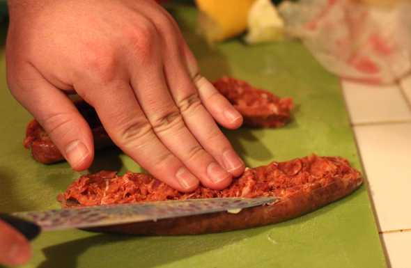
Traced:
<svg viewBox="0 0 411 268">
<path fill-rule="evenodd" d="M 286 1 L 279 12 L 286 32 L 301 38 L 330 72 L 389 84 L 411 71 L 411 3 L 391 3 L 382 8 L 359 0 Z"/>
</svg>

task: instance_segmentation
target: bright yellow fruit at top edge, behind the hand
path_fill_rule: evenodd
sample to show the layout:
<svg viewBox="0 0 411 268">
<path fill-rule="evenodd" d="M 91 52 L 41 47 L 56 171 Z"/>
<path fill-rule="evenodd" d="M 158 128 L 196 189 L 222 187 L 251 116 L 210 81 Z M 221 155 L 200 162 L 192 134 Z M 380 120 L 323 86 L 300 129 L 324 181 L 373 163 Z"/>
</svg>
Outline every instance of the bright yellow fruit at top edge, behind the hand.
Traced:
<svg viewBox="0 0 411 268">
<path fill-rule="evenodd" d="M 196 0 L 199 27 L 209 42 L 237 36 L 247 29 L 249 9 L 255 0 Z"/>
</svg>

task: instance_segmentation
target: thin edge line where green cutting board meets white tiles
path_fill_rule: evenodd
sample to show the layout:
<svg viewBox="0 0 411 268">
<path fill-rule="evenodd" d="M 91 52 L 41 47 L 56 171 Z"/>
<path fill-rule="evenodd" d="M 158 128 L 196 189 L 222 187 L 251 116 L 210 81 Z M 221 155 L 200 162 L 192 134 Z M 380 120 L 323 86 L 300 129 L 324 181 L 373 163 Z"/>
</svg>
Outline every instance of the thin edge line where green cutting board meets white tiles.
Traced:
<svg viewBox="0 0 411 268">
<path fill-rule="evenodd" d="M 355 130 L 354 130 L 354 127 L 353 127 L 354 125 L 352 124 L 352 117 L 351 117 L 350 110 L 348 109 L 347 97 L 346 97 L 346 94 L 345 94 L 344 89 L 343 89 L 343 80 L 341 78 L 340 78 L 340 86 L 341 86 L 341 91 L 342 91 L 341 93 L 343 93 L 343 97 L 344 97 L 344 107 L 346 108 L 346 111 L 348 112 L 349 119 L 350 119 L 350 125 L 352 126 L 351 127 L 351 133 L 352 133 L 352 136 L 354 136 L 355 146 L 357 147 L 357 154 L 358 154 L 358 157 L 359 157 L 359 164 L 361 164 L 362 170 L 363 170 L 363 173 L 364 173 L 364 182 L 366 182 L 366 183 L 364 183 L 364 187 L 366 187 L 367 196 L 368 196 L 370 204 L 371 204 L 371 210 L 373 211 L 374 222 L 375 222 L 375 225 L 377 226 L 378 234 L 379 234 L 380 230 L 381 230 L 381 225 L 380 225 L 380 221 L 378 219 L 377 210 L 375 209 L 375 203 L 374 203 L 373 197 L 371 196 L 371 188 L 370 188 L 369 179 L 368 179 L 368 176 L 366 174 L 366 168 L 365 168 L 365 165 L 364 165 L 362 152 L 361 152 L 361 149 L 359 148 L 357 134 L 355 133 Z M 380 238 L 380 244 L 382 246 L 382 251 L 385 255 L 385 262 L 386 262 L 387 268 L 392 268 L 391 260 L 389 260 L 387 245 L 385 244 L 384 239 Z"/>
</svg>

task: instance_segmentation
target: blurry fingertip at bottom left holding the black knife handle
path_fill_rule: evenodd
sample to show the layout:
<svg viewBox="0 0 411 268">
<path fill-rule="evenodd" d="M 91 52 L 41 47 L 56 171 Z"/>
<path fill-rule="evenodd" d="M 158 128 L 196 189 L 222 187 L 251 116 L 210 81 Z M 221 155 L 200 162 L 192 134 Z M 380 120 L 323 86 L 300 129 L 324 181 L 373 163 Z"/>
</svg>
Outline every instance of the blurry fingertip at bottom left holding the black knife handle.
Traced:
<svg viewBox="0 0 411 268">
<path fill-rule="evenodd" d="M 22 265 L 31 257 L 30 244 L 8 223 L 0 221 L 0 264 Z"/>
</svg>

